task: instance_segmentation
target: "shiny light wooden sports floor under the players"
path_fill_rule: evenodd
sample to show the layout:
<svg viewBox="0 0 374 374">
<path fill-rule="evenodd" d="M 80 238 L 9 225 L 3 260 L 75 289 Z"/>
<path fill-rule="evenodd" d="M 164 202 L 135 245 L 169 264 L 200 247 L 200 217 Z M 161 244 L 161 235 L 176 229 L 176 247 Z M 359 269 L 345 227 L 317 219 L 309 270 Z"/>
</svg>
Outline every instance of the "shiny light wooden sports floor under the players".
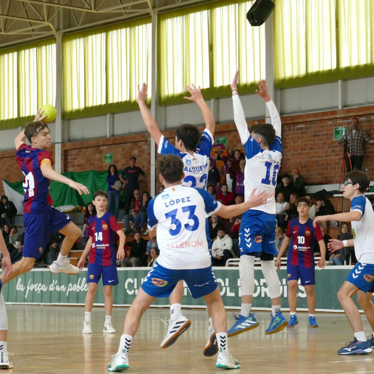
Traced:
<svg viewBox="0 0 374 374">
<path fill-rule="evenodd" d="M 114 308 L 113 326 L 117 334 L 103 334 L 104 309 L 92 312 L 92 335 L 82 334 L 84 307 L 7 305 L 9 318 L 8 352 L 14 368 L 10 373 L 70 374 L 106 373 L 110 356 L 118 348 L 126 308 Z M 159 345 L 166 332 L 161 318 L 168 309 L 149 309 L 133 340 L 127 373 L 219 373 L 216 358 L 202 354 L 205 345 L 206 311 L 184 310 L 192 325 L 177 342 Z M 286 318 L 288 313 L 285 312 Z M 343 314 L 317 314 L 319 328 L 308 327 L 308 315 L 298 313 L 299 324 L 278 334 L 265 335 L 269 313 L 256 313 L 260 326 L 229 339 L 229 349 L 240 361 L 236 373 L 374 373 L 374 352 L 365 356 L 339 356 L 336 350 L 353 340 Z M 233 322 L 227 311 L 228 325 Z M 365 332 L 370 327 L 364 322 Z M 352 339 L 351 339 L 352 338 Z M 6 371 L 1 371 L 1 373 Z"/>
</svg>

